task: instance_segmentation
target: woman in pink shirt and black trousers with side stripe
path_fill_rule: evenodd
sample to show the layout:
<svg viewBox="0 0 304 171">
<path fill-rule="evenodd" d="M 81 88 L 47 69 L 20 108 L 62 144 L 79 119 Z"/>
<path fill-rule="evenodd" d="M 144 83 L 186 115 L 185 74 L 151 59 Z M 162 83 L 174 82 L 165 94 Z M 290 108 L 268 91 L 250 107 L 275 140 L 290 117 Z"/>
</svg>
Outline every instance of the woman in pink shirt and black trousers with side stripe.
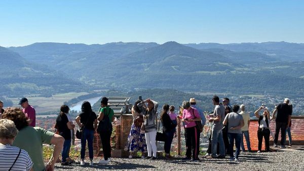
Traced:
<svg viewBox="0 0 304 171">
<path fill-rule="evenodd" d="M 185 139 L 186 139 L 186 157 L 182 160 L 192 160 L 198 161 L 199 150 L 200 150 L 200 131 L 197 130 L 195 121 L 201 121 L 201 116 L 197 109 L 190 106 L 190 102 L 183 101 L 182 107 L 184 108 L 182 119 L 184 129 L 185 129 Z"/>
</svg>

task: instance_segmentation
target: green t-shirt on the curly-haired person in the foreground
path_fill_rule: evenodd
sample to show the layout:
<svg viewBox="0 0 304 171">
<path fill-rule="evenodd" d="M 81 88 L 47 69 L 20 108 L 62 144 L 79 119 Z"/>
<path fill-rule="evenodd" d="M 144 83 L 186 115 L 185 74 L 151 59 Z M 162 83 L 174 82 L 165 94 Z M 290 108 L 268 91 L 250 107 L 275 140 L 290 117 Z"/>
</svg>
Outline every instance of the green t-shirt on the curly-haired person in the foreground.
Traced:
<svg viewBox="0 0 304 171">
<path fill-rule="evenodd" d="M 32 159 L 33 170 L 45 170 L 42 144 L 50 144 L 55 133 L 40 127 L 27 126 L 20 130 L 15 138 L 13 146 L 24 149 Z"/>
</svg>

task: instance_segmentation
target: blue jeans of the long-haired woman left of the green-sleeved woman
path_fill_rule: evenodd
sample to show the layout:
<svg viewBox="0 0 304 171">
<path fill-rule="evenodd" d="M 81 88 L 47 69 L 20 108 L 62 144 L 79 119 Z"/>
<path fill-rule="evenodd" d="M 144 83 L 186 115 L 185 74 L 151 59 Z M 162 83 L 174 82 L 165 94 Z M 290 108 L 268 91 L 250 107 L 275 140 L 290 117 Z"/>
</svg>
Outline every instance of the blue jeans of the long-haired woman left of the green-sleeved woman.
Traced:
<svg viewBox="0 0 304 171">
<path fill-rule="evenodd" d="M 88 148 L 89 148 L 89 157 L 90 159 L 93 159 L 93 137 L 94 137 L 93 130 L 84 129 L 83 136 L 81 139 L 81 151 L 80 151 L 81 159 L 85 159 L 87 140 L 88 140 Z"/>
</svg>

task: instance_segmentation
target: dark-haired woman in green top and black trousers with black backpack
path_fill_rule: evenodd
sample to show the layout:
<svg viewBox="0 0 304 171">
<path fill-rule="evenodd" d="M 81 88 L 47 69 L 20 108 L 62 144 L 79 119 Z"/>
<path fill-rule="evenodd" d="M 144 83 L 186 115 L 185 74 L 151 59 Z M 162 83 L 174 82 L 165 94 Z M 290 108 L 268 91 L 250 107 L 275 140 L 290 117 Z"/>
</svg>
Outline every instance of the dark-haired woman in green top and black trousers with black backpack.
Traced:
<svg viewBox="0 0 304 171">
<path fill-rule="evenodd" d="M 101 99 L 101 110 L 98 115 L 98 128 L 97 131 L 100 135 L 102 144 L 103 160 L 99 160 L 99 164 L 108 164 L 111 161 L 111 135 L 112 135 L 112 122 L 114 120 L 114 112 L 107 105 L 108 99 L 103 97 Z"/>
</svg>

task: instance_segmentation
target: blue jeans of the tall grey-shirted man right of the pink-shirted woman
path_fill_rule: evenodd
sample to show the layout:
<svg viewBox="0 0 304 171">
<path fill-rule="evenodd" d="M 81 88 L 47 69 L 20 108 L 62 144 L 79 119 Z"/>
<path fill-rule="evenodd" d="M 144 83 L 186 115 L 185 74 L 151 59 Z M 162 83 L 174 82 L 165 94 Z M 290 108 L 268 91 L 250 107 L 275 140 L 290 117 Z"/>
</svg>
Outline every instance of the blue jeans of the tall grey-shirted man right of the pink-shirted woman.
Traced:
<svg viewBox="0 0 304 171">
<path fill-rule="evenodd" d="M 224 156 L 225 145 L 224 145 L 222 130 L 214 130 L 212 127 L 212 136 L 211 136 L 212 156 L 216 156 L 217 143 L 219 143 L 219 155 Z"/>
</svg>

